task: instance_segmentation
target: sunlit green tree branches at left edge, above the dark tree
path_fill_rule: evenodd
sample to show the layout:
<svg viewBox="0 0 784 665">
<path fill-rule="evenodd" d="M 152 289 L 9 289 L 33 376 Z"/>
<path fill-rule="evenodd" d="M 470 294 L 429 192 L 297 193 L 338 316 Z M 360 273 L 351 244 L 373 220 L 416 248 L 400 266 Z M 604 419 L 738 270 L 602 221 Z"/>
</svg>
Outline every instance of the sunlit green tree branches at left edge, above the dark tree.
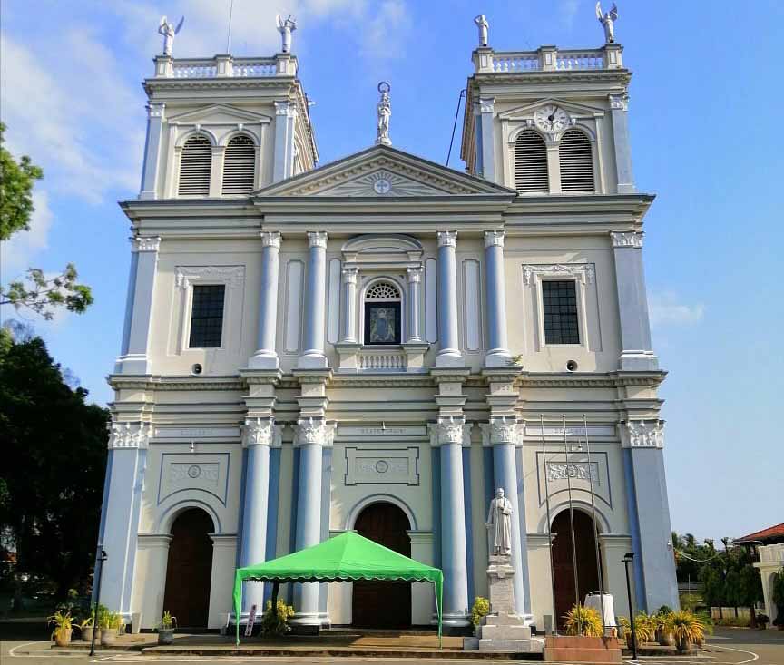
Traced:
<svg viewBox="0 0 784 665">
<path fill-rule="evenodd" d="M 28 156 L 15 161 L 3 147 L 5 125 L 0 122 L 0 240 L 8 240 L 18 231 L 29 230 L 35 210 L 33 185 L 44 177 Z M 17 310 L 28 308 L 49 319 L 54 309 L 64 307 L 81 314 L 93 304 L 90 287 L 77 283 L 79 277 L 73 263 L 54 275 L 31 268 L 26 279 L 15 279 L 7 287 L 0 286 L 0 305 L 13 305 Z"/>
</svg>

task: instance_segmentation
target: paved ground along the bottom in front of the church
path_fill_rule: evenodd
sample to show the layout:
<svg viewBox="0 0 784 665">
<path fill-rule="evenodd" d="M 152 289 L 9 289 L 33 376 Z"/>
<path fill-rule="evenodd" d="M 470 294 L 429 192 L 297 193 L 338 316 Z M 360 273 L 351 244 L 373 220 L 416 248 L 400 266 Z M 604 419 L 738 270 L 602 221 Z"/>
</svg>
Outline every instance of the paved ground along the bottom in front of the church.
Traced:
<svg viewBox="0 0 784 665">
<path fill-rule="evenodd" d="M 9 636 L 10 637 L 10 636 Z M 174 663 L 192 662 L 198 660 L 200 665 L 225 665 L 227 661 L 232 662 L 259 662 L 275 663 L 276 665 L 305 665 L 306 663 L 325 663 L 340 662 L 345 659 L 329 658 L 300 658 L 300 659 L 253 659 L 253 658 L 198 658 L 193 656 L 176 657 L 154 657 L 142 656 L 134 653 L 111 653 L 99 652 L 94 658 L 90 658 L 86 653 L 77 654 L 56 654 L 49 648 L 48 641 L 2 641 L 0 642 L 0 663 L 2 665 L 55 665 L 56 663 L 82 663 L 105 662 L 110 663 Z M 709 656 L 710 660 L 706 660 Z M 390 665 L 421 665 L 421 661 L 411 659 L 352 659 L 351 663 L 362 665 L 363 663 L 384 662 Z M 462 663 L 466 664 L 472 660 L 434 660 L 436 663 Z M 509 661 L 477 660 L 485 665 L 494 662 L 503 662 L 509 665 Z M 534 661 L 536 662 L 536 661 Z M 749 630 L 717 630 L 716 635 L 711 637 L 707 644 L 707 653 L 701 654 L 701 660 L 693 660 L 688 657 L 666 660 L 642 659 L 643 665 L 658 665 L 658 663 L 671 663 L 672 665 L 689 665 L 697 663 L 700 665 L 784 665 L 784 632 L 779 631 L 749 631 Z"/>
</svg>

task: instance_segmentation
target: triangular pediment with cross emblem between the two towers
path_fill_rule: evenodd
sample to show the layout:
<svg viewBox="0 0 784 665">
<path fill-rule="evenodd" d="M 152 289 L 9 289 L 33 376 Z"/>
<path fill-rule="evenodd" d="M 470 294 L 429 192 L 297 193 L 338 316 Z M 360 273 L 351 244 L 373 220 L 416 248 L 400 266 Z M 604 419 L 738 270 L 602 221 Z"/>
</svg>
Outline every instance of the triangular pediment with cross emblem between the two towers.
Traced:
<svg viewBox="0 0 784 665">
<path fill-rule="evenodd" d="M 255 193 L 347 198 L 516 195 L 514 190 L 386 145 L 373 146 Z"/>
</svg>

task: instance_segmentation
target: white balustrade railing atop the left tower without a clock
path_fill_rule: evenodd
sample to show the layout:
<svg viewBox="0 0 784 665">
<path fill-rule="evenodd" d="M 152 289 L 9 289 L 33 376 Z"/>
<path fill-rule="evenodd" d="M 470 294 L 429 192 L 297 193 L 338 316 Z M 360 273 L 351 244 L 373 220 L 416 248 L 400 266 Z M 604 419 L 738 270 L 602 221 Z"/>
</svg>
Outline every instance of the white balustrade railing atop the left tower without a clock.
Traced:
<svg viewBox="0 0 784 665">
<path fill-rule="evenodd" d="M 296 76 L 297 58 L 291 54 L 277 54 L 271 58 L 233 58 L 216 55 L 214 58 L 178 58 L 170 55 L 155 57 L 156 79 L 215 79 L 269 78 Z"/>
</svg>

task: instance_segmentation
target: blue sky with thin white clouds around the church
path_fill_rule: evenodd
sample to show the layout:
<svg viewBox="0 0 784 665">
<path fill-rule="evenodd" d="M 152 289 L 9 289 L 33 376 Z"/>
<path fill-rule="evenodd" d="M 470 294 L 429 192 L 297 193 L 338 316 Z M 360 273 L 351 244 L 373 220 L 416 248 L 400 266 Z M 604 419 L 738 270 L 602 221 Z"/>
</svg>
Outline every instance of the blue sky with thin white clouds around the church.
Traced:
<svg viewBox="0 0 784 665">
<path fill-rule="evenodd" d="M 95 305 L 34 327 L 98 402 L 111 399 L 104 377 L 120 347 L 130 261 L 116 201 L 138 191 L 140 83 L 161 47 L 158 20 L 186 15 L 176 56 L 223 53 L 228 1 L 2 4 L 7 147 L 45 172 L 33 229 L 0 248 L 2 279 L 76 263 Z M 645 260 L 654 344 L 670 371 L 662 396 L 672 524 L 739 536 L 784 521 L 784 2 L 620 5 L 635 176 L 658 195 Z M 591 0 L 235 0 L 231 53 L 274 53 L 277 12 L 298 18 L 293 50 L 316 101 L 321 163 L 373 141 L 381 79 L 392 84 L 395 146 L 445 161 L 480 12 L 496 50 L 603 41 Z M 451 165 L 462 169 L 458 155 L 456 145 Z"/>
</svg>

